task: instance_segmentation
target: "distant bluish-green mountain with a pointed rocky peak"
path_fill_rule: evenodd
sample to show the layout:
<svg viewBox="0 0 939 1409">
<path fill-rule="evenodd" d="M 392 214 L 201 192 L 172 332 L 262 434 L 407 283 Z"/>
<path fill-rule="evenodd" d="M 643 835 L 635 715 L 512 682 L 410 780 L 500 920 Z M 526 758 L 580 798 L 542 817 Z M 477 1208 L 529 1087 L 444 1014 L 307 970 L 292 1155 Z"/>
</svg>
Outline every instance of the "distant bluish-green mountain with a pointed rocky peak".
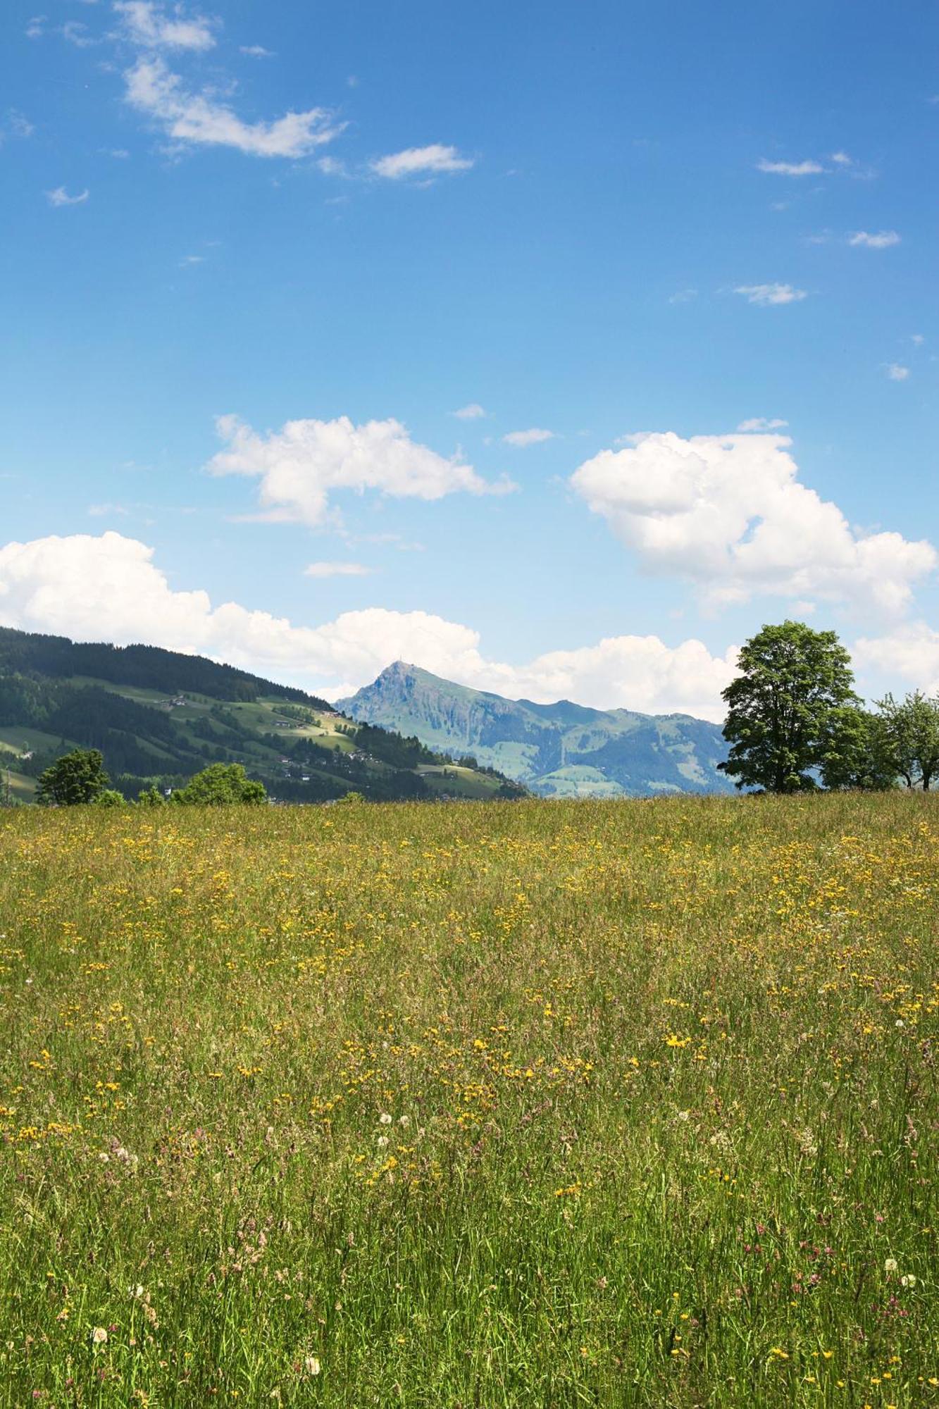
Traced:
<svg viewBox="0 0 939 1409">
<path fill-rule="evenodd" d="M 733 783 L 718 772 L 728 757 L 720 726 L 689 714 L 508 700 L 403 661 L 337 707 L 352 719 L 413 734 L 429 748 L 471 755 L 546 796 L 733 792 Z"/>
</svg>

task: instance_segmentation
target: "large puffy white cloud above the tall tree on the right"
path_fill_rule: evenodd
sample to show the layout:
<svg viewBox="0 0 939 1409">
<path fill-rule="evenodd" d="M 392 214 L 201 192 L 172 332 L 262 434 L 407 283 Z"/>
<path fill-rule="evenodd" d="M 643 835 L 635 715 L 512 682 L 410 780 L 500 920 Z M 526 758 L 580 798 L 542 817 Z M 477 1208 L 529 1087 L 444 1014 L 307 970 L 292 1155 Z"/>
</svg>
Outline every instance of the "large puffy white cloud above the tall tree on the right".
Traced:
<svg viewBox="0 0 939 1409">
<path fill-rule="evenodd" d="M 647 572 L 691 579 L 709 606 L 771 595 L 902 612 L 939 564 L 926 541 L 856 533 L 798 480 L 784 435 L 636 435 L 572 488 Z"/>
</svg>

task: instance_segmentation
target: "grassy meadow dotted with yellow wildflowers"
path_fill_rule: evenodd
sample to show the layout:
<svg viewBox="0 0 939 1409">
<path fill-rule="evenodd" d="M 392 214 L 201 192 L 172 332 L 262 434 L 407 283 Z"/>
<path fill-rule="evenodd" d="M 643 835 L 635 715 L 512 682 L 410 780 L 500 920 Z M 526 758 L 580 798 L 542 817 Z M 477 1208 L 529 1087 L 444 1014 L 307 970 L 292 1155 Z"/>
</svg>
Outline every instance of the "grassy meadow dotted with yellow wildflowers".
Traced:
<svg viewBox="0 0 939 1409">
<path fill-rule="evenodd" d="M 0 813 L 0 1405 L 939 1406 L 939 797 Z"/>
</svg>

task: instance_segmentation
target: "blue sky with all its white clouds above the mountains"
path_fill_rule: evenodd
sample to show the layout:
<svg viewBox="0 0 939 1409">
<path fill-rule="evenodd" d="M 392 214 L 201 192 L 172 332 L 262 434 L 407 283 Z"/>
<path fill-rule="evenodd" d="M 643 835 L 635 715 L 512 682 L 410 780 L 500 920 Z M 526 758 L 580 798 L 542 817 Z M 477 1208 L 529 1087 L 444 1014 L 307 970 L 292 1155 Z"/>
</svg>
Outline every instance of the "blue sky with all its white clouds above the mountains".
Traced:
<svg viewBox="0 0 939 1409">
<path fill-rule="evenodd" d="M 939 688 L 933 4 L 3 28 L 0 621 L 718 717 L 795 614 Z"/>
</svg>

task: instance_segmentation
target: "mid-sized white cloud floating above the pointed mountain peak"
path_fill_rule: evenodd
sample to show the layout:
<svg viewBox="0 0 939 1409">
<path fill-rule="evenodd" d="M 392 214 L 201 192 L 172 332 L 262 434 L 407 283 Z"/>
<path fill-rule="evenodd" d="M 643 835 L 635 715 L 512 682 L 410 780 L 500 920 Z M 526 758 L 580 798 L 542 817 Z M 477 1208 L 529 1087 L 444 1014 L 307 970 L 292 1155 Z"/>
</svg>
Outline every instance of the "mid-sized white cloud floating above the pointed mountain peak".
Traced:
<svg viewBox="0 0 939 1409">
<path fill-rule="evenodd" d="M 259 519 L 319 526 L 330 517 L 334 490 L 374 489 L 395 499 L 443 499 L 444 495 L 505 493 L 515 486 L 488 483 L 458 455 L 447 459 L 412 441 L 396 420 L 354 426 L 334 421 L 288 421 L 278 433 L 258 435 L 237 416 L 216 423 L 228 448 L 213 457 L 213 475 L 251 475 L 261 480 Z"/>
</svg>

